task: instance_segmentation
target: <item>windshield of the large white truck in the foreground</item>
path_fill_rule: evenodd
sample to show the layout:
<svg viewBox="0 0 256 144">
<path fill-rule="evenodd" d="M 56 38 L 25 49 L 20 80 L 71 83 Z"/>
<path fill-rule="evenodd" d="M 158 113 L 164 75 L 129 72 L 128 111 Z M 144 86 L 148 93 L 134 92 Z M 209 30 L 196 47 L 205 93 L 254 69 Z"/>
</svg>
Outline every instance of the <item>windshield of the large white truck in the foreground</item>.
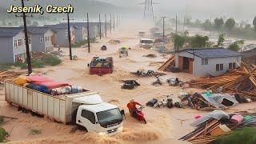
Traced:
<svg viewBox="0 0 256 144">
<path fill-rule="evenodd" d="M 102 126 L 122 122 L 122 114 L 118 108 L 97 113 L 98 123 Z"/>
</svg>

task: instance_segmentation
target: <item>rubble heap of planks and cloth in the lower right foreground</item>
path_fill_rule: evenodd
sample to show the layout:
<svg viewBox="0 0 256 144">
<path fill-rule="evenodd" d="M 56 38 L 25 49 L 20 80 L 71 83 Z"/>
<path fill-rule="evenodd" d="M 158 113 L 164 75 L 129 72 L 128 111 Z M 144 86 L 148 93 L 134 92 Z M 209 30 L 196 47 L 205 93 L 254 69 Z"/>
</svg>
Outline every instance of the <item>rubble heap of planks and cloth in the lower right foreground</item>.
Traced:
<svg viewBox="0 0 256 144">
<path fill-rule="evenodd" d="M 232 130 L 256 126 L 255 115 L 256 113 L 248 111 L 226 114 L 222 110 L 214 110 L 205 116 L 198 115 L 195 117 L 198 118 L 197 121 L 190 124 L 197 128 L 179 140 L 191 143 L 211 143 L 216 137 L 230 134 Z"/>
</svg>

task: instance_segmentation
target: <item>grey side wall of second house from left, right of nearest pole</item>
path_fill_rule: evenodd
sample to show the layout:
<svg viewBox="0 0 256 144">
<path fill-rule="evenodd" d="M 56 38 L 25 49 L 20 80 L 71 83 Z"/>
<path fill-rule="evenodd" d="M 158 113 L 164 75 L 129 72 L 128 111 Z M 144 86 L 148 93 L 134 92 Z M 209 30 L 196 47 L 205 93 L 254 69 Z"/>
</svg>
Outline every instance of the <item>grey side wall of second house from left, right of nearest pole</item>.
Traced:
<svg viewBox="0 0 256 144">
<path fill-rule="evenodd" d="M 40 38 L 42 38 L 42 42 L 40 42 Z M 44 34 L 32 34 L 31 46 L 34 52 L 45 52 Z"/>
</svg>

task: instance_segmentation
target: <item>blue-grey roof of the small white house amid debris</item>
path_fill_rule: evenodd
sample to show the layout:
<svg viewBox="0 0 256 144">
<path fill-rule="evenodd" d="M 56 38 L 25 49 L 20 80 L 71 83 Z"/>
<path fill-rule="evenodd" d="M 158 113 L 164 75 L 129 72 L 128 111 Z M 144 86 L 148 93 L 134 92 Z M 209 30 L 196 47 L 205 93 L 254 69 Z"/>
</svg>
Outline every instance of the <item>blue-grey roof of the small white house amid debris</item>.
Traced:
<svg viewBox="0 0 256 144">
<path fill-rule="evenodd" d="M 226 58 L 226 57 L 236 57 L 241 54 L 232 50 L 227 50 L 224 48 L 204 48 L 204 49 L 188 49 L 180 50 L 179 52 L 188 52 L 194 54 L 200 58 Z"/>
</svg>

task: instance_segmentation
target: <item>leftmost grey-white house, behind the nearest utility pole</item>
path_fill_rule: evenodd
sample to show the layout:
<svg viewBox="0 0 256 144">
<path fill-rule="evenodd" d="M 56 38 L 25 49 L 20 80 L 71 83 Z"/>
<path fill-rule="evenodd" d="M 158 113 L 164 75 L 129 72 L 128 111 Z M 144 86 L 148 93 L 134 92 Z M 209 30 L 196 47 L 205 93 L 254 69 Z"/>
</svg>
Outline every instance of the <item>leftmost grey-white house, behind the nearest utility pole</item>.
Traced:
<svg viewBox="0 0 256 144">
<path fill-rule="evenodd" d="M 29 46 L 31 51 L 31 35 Z M 0 62 L 13 63 L 26 59 L 25 34 L 21 28 L 1 27 L 0 28 Z"/>
</svg>

